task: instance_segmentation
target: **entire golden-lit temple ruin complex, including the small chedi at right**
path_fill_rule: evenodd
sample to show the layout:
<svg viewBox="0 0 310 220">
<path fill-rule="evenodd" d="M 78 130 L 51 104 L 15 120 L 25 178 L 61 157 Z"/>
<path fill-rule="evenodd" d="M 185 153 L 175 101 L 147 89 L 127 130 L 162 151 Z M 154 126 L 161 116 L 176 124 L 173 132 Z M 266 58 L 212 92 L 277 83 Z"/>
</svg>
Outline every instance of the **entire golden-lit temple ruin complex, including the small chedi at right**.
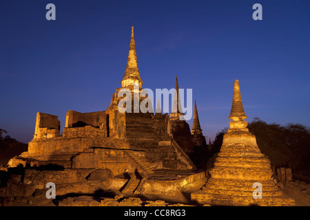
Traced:
<svg viewBox="0 0 310 220">
<path fill-rule="evenodd" d="M 271 180 L 269 159 L 260 153 L 256 137 L 247 129 L 238 80 L 229 115 L 230 129 L 209 179 L 191 159 L 195 147 L 207 149 L 196 100 L 192 130 L 185 120 L 180 120 L 184 113 L 177 77 L 170 115 L 161 112 L 160 104 L 155 113 L 119 111 L 123 98 L 118 96 L 119 91 L 128 89 L 132 99 L 142 88 L 132 27 L 125 74 L 110 106 L 90 113 L 69 110 L 62 133 L 58 116 L 37 113 L 28 151 L 8 162 L 6 171 L 10 176 L 6 184 L 0 184 L 4 203 L 10 206 L 14 202 L 52 202 L 45 197 L 45 186 L 52 182 L 59 206 L 88 202 L 94 206 L 136 206 L 142 203 L 140 198 L 149 199 L 145 206 L 165 201 L 233 206 L 293 204 L 282 198 L 282 192 Z M 147 98 L 138 96 L 138 103 Z M 262 184 L 262 199 L 253 198 L 254 182 Z M 112 198 L 105 197 L 107 194 Z M 99 199 L 85 201 L 84 197 L 90 195 Z M 192 201 L 184 195 L 191 195 Z M 152 201 L 156 199 L 165 201 Z"/>
</svg>

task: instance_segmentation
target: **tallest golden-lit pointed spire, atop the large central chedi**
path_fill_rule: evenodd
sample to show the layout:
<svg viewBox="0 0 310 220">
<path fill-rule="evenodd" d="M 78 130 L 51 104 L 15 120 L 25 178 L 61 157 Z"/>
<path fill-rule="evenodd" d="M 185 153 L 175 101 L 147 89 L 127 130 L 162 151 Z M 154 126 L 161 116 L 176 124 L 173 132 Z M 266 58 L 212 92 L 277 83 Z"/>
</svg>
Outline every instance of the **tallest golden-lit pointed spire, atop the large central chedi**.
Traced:
<svg viewBox="0 0 310 220">
<path fill-rule="evenodd" d="M 122 87 L 127 87 L 129 85 L 134 85 L 134 83 L 139 83 L 141 87 L 143 82 L 140 78 L 138 70 L 138 63 L 136 59 L 136 43 L 134 42 L 134 26 L 132 26 L 130 50 L 128 52 L 127 66 L 123 80 L 121 81 L 121 85 Z"/>
</svg>

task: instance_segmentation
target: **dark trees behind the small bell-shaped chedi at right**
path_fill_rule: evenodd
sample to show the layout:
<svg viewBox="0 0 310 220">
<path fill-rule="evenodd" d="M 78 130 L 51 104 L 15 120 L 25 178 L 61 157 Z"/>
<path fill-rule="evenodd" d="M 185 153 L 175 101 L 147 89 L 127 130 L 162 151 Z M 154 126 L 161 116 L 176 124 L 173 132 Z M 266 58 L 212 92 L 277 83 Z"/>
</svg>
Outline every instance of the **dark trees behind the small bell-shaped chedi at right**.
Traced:
<svg viewBox="0 0 310 220">
<path fill-rule="evenodd" d="M 274 166 L 290 166 L 291 168 L 307 169 L 310 167 L 310 130 L 302 124 L 267 124 L 254 118 L 247 126 L 256 135 L 260 151 L 267 155 Z M 216 134 L 212 155 L 220 151 L 223 135 L 227 129 Z"/>
</svg>

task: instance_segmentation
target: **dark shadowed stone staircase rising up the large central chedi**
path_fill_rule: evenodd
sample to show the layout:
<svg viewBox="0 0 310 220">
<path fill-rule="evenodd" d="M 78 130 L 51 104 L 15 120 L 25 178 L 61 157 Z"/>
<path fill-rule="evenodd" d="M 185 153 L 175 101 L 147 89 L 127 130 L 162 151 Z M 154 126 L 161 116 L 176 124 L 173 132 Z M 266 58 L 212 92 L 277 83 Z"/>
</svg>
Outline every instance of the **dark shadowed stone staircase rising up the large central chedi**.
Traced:
<svg viewBox="0 0 310 220">
<path fill-rule="evenodd" d="M 187 154 L 172 140 L 172 137 L 165 133 L 165 126 L 162 127 L 161 124 L 161 127 L 158 128 L 156 123 L 158 122 L 154 120 L 154 116 L 147 113 L 126 114 L 127 141 L 132 149 L 145 151 L 146 157 L 138 157 L 138 155 L 130 153 L 132 159 L 146 173 L 152 172 L 156 168 L 194 168 L 195 166 Z"/>
</svg>

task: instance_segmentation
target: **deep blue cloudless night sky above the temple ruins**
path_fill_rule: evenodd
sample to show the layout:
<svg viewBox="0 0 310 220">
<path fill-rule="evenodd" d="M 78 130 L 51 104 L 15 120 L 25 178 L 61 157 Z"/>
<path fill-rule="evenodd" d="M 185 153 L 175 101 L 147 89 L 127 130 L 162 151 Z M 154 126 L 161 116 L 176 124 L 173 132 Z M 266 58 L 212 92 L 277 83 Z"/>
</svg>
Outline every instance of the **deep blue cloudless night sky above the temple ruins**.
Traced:
<svg viewBox="0 0 310 220">
<path fill-rule="evenodd" d="M 45 19 L 48 3 L 56 21 Z M 1 129 L 29 142 L 37 112 L 63 128 L 70 109 L 104 111 L 121 87 L 133 21 L 143 87 L 171 89 L 178 75 L 212 141 L 229 126 L 236 79 L 248 122 L 310 126 L 309 0 L 1 0 Z"/>
</svg>

